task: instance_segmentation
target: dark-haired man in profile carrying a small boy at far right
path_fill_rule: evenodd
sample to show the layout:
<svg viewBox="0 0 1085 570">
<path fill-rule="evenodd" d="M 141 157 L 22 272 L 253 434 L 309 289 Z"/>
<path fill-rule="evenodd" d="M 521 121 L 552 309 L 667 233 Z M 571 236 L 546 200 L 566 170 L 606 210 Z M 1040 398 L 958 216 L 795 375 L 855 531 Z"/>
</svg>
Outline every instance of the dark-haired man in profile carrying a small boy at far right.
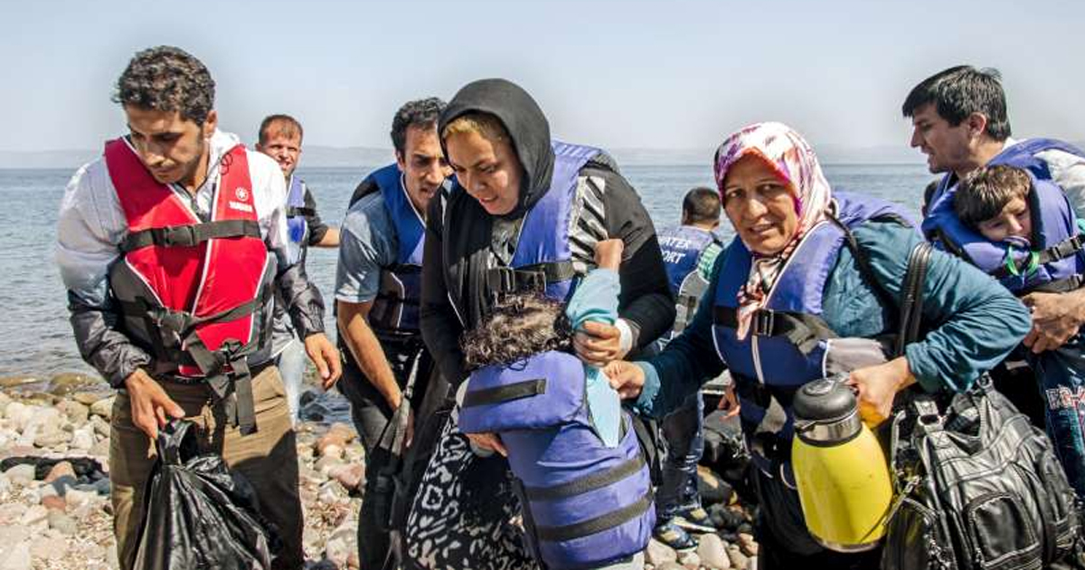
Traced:
<svg viewBox="0 0 1085 570">
<path fill-rule="evenodd" d="M 937 240 L 936 219 L 952 213 L 957 185 L 983 166 L 1005 164 L 1032 172 L 1062 189 L 1077 217 L 1085 217 L 1085 153 L 1045 138 L 1014 140 L 995 69 L 958 65 L 920 81 L 904 101 L 911 118 L 911 147 L 927 155 L 932 174 L 944 174 L 926 204 L 923 232 Z M 944 242 L 943 242 L 944 244 Z M 1085 324 L 1085 289 L 1061 293 L 1033 292 L 1022 299 L 1032 308 L 1032 331 L 1024 339 L 1034 353 L 1055 350 Z M 1035 408 L 1036 391 L 995 376 L 996 387 L 1021 408 Z"/>
</svg>

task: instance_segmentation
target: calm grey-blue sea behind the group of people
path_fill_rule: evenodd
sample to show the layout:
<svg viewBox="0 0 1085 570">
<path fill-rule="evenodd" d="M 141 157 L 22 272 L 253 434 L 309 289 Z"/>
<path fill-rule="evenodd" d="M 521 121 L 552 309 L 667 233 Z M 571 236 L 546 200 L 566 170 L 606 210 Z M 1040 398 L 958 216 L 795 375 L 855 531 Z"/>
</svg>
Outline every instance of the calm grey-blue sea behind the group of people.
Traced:
<svg viewBox="0 0 1085 570">
<path fill-rule="evenodd" d="M 298 173 L 315 192 L 322 217 L 339 224 L 350 193 L 369 170 L 301 168 Z M 0 377 L 48 379 L 62 371 L 91 371 L 72 339 L 64 288 L 53 262 L 56 211 L 72 173 L 0 169 Z M 686 190 L 712 182 L 710 169 L 701 166 L 629 166 L 623 173 L 656 227 L 678 221 Z M 826 175 L 834 188 L 879 195 L 912 214 L 931 179 L 922 165 L 829 165 Z M 308 273 L 326 299 L 331 297 L 335 259 L 334 250 L 309 253 Z M 331 325 L 330 316 L 329 312 Z"/>
</svg>

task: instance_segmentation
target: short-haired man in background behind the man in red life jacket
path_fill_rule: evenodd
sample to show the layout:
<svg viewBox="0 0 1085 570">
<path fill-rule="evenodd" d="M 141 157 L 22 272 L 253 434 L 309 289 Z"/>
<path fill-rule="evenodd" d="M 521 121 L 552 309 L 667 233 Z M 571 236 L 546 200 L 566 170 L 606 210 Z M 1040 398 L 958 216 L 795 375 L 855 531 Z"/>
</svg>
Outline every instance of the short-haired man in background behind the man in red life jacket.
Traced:
<svg viewBox="0 0 1085 570">
<path fill-rule="evenodd" d="M 317 201 L 301 177 L 294 176 L 302 155 L 302 124 L 290 115 L 268 115 L 260 122 L 256 150 L 275 159 L 286 179 L 286 228 L 291 251 L 305 267 L 305 253 L 310 245 L 335 248 L 339 228 L 328 226 L 317 214 Z M 276 297 L 275 328 L 271 332 L 271 354 L 286 387 L 290 417 L 297 422 L 302 380 L 305 377 L 305 347 L 286 318 L 283 301 Z"/>
</svg>

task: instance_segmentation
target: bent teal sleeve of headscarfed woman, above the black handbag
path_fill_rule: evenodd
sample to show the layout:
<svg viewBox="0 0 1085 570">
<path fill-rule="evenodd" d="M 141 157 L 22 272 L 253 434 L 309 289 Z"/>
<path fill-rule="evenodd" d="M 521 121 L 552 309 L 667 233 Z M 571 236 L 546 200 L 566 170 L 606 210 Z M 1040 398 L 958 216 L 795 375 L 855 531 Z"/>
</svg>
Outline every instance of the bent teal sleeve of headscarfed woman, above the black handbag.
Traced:
<svg viewBox="0 0 1085 570">
<path fill-rule="evenodd" d="M 895 300 L 908 255 L 922 241 L 909 227 L 869 221 L 854 230 L 875 279 Z M 905 347 L 908 366 L 929 392 L 967 390 L 1029 332 L 1027 309 L 1007 289 L 968 263 L 934 251 L 923 281 L 922 340 Z"/>
</svg>

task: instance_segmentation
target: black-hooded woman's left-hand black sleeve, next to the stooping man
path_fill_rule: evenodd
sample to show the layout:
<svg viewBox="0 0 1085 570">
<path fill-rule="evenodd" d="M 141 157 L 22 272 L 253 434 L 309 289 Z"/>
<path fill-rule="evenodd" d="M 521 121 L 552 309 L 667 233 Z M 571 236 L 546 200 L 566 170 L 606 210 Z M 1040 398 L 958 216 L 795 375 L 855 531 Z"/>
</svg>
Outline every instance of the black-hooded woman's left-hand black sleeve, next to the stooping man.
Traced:
<svg viewBox="0 0 1085 570">
<path fill-rule="evenodd" d="M 467 379 L 460 335 L 463 326 L 448 299 L 442 246 L 444 224 L 443 197 L 430 201 L 425 224 L 425 249 L 422 261 L 422 300 L 419 306 L 422 340 L 437 363 L 445 380 L 455 389 Z"/>
</svg>

